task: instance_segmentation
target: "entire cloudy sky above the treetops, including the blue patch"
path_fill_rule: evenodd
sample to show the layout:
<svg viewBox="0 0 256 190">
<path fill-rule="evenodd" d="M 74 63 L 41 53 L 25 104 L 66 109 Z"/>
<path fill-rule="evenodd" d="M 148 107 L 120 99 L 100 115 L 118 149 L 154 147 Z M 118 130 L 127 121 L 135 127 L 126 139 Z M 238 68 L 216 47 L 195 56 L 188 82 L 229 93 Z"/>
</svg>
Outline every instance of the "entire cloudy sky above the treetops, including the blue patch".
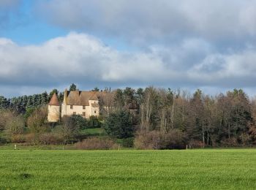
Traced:
<svg viewBox="0 0 256 190">
<path fill-rule="evenodd" d="M 0 95 L 243 88 L 255 96 L 256 0 L 0 0 Z"/>
</svg>

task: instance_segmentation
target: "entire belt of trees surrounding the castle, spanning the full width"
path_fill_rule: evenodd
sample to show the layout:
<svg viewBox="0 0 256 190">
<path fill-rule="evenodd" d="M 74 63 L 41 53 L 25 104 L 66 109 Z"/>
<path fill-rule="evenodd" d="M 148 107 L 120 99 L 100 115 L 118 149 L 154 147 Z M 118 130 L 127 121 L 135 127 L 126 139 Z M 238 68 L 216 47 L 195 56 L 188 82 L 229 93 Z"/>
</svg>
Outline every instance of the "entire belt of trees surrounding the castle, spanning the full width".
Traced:
<svg viewBox="0 0 256 190">
<path fill-rule="evenodd" d="M 75 88 L 72 86 L 73 90 Z M 34 134 L 33 140 L 37 142 L 45 138 L 50 143 L 51 138 L 52 142 L 68 143 L 86 138 L 80 131 L 90 122 L 96 122 L 112 140 L 123 139 L 135 148 L 255 145 L 256 99 L 249 98 L 241 89 L 215 96 L 200 90 L 190 94 L 152 86 L 104 91 L 109 93 L 99 96 L 99 118 L 86 121 L 77 115 L 63 118 L 57 126 L 46 122 L 47 113 L 45 108 L 42 109 L 54 92 L 61 102 L 63 94 L 56 89 L 50 94 L 45 92 L 12 99 L 0 96 L 0 133 L 15 134 L 12 138 L 19 136 L 17 134 Z M 8 114 L 12 114 L 10 121 L 4 120 Z"/>
</svg>

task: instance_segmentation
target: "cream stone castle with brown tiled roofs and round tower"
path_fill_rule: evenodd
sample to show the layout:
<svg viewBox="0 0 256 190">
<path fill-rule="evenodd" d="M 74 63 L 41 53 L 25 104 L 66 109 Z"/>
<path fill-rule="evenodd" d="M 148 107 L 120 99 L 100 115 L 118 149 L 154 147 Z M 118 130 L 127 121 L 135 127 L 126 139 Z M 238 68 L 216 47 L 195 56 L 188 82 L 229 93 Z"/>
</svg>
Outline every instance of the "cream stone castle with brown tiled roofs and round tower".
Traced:
<svg viewBox="0 0 256 190">
<path fill-rule="evenodd" d="M 64 115 L 81 115 L 90 118 L 99 116 L 99 91 L 64 91 L 64 100 L 59 103 L 56 94 L 53 94 L 48 104 L 48 121 L 58 122 Z"/>
</svg>

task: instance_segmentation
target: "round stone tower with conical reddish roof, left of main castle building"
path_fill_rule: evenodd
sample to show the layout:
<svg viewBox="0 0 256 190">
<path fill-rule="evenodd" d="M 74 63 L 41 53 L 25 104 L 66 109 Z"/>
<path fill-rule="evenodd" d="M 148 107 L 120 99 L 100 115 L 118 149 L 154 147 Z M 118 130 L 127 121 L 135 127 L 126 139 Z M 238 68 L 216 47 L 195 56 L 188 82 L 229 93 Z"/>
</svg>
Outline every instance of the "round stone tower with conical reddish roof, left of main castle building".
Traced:
<svg viewBox="0 0 256 190">
<path fill-rule="evenodd" d="M 58 122 L 61 115 L 61 106 L 56 93 L 53 94 L 48 104 L 48 121 Z"/>
</svg>

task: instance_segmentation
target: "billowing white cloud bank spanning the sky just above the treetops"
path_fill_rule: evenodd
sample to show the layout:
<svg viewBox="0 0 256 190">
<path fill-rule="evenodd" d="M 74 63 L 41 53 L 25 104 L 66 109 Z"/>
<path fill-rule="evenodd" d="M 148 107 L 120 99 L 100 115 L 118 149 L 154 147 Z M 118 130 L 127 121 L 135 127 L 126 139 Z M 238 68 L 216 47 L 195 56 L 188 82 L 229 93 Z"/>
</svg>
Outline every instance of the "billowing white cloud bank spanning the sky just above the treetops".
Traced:
<svg viewBox="0 0 256 190">
<path fill-rule="evenodd" d="M 184 39 L 172 47 L 158 45 L 134 53 L 78 33 L 42 45 L 19 46 L 0 39 L 0 86 L 37 86 L 42 91 L 70 83 L 250 88 L 256 79 L 255 55 L 252 46 L 241 52 L 214 53 L 203 39 Z"/>
</svg>

